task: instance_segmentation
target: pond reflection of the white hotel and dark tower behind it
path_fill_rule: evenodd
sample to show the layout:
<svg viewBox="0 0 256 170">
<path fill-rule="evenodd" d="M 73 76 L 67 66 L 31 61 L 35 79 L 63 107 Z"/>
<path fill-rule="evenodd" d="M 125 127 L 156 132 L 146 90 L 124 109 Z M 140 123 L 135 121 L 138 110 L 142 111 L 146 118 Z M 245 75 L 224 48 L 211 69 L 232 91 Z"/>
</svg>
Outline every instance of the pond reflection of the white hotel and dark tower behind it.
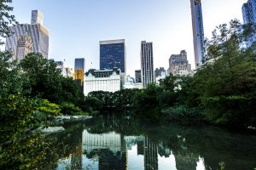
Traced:
<svg viewBox="0 0 256 170">
<path fill-rule="evenodd" d="M 83 132 L 83 150 L 87 156 L 97 156 L 100 170 L 128 169 L 124 136 L 119 133 Z"/>
</svg>

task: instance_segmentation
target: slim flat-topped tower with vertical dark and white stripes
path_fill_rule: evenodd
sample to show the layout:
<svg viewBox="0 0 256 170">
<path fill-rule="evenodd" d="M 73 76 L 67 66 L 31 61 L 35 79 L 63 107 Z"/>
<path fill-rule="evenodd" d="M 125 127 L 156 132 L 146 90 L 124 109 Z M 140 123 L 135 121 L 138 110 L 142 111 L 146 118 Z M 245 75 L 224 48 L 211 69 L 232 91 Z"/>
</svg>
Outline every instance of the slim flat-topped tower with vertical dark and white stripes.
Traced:
<svg viewBox="0 0 256 170">
<path fill-rule="evenodd" d="M 143 41 L 141 44 L 141 64 L 143 88 L 154 82 L 153 43 Z"/>
</svg>

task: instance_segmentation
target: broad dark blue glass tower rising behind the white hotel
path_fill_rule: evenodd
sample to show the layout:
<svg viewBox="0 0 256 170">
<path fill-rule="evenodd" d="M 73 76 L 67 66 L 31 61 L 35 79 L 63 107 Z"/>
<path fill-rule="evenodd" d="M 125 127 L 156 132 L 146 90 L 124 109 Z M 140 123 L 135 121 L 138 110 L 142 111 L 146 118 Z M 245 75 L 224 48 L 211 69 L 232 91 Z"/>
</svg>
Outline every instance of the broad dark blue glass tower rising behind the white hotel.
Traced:
<svg viewBox="0 0 256 170">
<path fill-rule="evenodd" d="M 100 69 L 121 69 L 126 72 L 125 40 L 109 40 L 100 42 Z"/>
</svg>

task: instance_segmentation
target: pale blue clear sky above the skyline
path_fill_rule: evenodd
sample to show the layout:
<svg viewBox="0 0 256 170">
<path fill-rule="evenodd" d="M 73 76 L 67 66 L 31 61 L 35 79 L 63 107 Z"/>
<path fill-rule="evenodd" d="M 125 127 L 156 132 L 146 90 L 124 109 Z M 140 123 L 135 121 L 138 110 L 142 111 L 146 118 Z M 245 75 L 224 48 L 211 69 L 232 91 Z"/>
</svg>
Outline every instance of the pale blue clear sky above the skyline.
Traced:
<svg viewBox="0 0 256 170">
<path fill-rule="evenodd" d="M 232 19 L 242 22 L 241 6 L 247 0 L 202 0 L 205 36 Z M 49 29 L 49 59 L 64 59 L 74 67 L 85 58 L 85 70 L 99 69 L 99 41 L 125 39 L 126 71 L 134 77 L 141 68 L 140 43 L 153 42 L 154 69 L 168 68 L 168 59 L 185 49 L 195 68 L 189 0 L 13 0 L 12 14 L 31 22 L 31 11 L 44 14 Z"/>
</svg>

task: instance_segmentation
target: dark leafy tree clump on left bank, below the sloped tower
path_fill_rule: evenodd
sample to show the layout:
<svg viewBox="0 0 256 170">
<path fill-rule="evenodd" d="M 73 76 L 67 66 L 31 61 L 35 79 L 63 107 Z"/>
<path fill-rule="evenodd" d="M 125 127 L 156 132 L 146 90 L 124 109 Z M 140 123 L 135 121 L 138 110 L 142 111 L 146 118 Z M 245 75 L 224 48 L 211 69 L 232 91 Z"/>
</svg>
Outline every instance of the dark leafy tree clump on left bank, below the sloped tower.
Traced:
<svg viewBox="0 0 256 170">
<path fill-rule="evenodd" d="M 42 54 L 27 54 L 20 60 L 20 68 L 28 80 L 24 84 L 26 96 L 49 99 L 50 102 L 63 102 L 83 105 L 84 94 L 70 77 L 62 77 L 53 59 L 44 59 Z"/>
</svg>

